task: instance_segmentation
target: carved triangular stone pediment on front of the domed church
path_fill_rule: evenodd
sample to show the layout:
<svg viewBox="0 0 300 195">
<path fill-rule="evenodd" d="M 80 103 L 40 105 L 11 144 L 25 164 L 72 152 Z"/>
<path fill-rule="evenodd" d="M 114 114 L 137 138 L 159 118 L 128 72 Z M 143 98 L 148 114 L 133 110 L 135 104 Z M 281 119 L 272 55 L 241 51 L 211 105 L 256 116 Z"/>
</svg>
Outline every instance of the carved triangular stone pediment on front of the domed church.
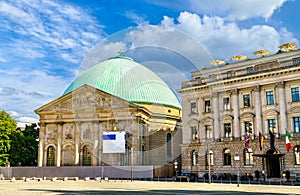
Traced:
<svg viewBox="0 0 300 195">
<path fill-rule="evenodd" d="M 65 94 L 35 110 L 37 114 L 49 112 L 77 112 L 99 109 L 136 107 L 121 98 L 112 96 L 88 85 Z"/>
</svg>

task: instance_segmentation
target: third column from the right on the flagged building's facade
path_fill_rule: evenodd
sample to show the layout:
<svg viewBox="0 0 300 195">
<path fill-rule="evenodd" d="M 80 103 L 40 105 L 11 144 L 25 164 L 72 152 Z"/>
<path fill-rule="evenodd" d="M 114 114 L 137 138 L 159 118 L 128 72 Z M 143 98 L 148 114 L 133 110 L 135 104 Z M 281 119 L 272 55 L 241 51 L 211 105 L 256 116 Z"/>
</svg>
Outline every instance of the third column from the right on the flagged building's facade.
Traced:
<svg viewBox="0 0 300 195">
<path fill-rule="evenodd" d="M 240 120 L 239 120 L 239 98 L 238 98 L 238 90 L 233 89 L 232 93 L 232 107 L 233 107 L 233 136 L 234 138 L 241 137 L 240 131 Z"/>
</svg>

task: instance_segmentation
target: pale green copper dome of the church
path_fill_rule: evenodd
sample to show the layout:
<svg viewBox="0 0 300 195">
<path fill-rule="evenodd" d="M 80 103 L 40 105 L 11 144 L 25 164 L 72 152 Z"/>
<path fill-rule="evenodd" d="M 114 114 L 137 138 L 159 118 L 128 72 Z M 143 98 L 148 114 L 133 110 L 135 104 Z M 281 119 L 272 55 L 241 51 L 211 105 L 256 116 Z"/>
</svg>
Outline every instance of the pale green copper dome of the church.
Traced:
<svg viewBox="0 0 300 195">
<path fill-rule="evenodd" d="M 128 57 L 117 56 L 92 66 L 81 74 L 63 95 L 85 84 L 131 103 L 162 104 L 181 108 L 176 95 L 163 80 Z"/>
</svg>

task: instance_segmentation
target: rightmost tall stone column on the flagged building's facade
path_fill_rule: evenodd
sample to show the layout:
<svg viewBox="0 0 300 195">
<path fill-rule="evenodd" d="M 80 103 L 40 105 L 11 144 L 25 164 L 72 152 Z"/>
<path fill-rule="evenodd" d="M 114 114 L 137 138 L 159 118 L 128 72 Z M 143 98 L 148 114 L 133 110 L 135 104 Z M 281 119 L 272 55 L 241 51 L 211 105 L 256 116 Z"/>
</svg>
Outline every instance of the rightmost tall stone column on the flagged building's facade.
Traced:
<svg viewBox="0 0 300 195">
<path fill-rule="evenodd" d="M 279 110 L 280 110 L 280 129 L 278 129 L 279 135 L 285 135 L 285 129 L 287 129 L 287 116 L 286 116 L 286 98 L 285 98 L 285 85 L 284 82 L 277 83 L 279 92 Z"/>
</svg>

